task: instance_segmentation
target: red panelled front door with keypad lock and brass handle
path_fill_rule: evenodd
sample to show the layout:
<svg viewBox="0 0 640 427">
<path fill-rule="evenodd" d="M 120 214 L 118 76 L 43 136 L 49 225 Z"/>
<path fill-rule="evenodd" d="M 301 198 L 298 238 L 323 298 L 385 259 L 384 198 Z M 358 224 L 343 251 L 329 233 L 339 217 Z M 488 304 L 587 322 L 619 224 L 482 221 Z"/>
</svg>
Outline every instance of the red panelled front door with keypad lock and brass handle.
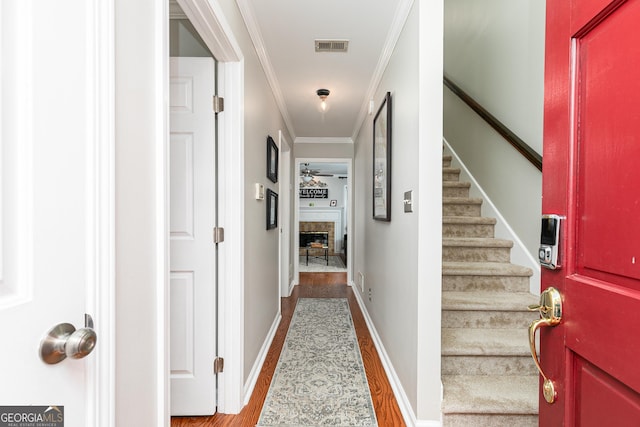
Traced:
<svg viewBox="0 0 640 427">
<path fill-rule="evenodd" d="M 640 426 L 640 0 L 548 0 L 543 213 L 566 216 L 541 426 Z"/>
</svg>

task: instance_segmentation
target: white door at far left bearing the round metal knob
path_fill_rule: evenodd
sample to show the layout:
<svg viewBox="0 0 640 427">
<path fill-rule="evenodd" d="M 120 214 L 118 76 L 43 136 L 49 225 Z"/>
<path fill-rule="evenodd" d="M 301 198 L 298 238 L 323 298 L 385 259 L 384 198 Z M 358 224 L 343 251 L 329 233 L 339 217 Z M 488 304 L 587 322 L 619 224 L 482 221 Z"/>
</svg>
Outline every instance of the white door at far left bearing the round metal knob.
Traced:
<svg viewBox="0 0 640 427">
<path fill-rule="evenodd" d="M 108 425 L 96 390 L 112 399 L 97 380 L 103 369 L 113 374 L 102 357 L 110 325 L 100 322 L 109 318 L 100 296 L 113 289 L 111 164 L 103 154 L 113 147 L 113 104 L 96 8 L 85 0 L 0 3 L 0 413 L 34 405 L 25 411 L 51 426 Z M 60 323 L 80 329 L 85 313 L 96 321 L 95 351 L 66 357 L 72 346 L 63 333 L 48 352 L 59 363 L 46 364 L 47 332 Z"/>
</svg>

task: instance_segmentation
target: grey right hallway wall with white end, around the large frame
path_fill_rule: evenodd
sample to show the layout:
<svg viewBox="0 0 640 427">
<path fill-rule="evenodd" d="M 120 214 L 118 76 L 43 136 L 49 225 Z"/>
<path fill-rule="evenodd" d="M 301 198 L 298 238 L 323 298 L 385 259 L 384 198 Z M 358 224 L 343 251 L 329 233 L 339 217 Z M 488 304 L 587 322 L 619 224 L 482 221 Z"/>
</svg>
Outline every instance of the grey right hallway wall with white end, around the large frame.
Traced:
<svg viewBox="0 0 640 427">
<path fill-rule="evenodd" d="M 441 82 L 442 2 L 415 2 L 375 95 L 376 110 L 392 96 L 391 222 L 372 219 L 373 116 L 357 137 L 354 174 L 356 285 L 361 272 L 362 298 L 406 400 L 433 425 L 441 413 Z M 413 213 L 404 213 L 408 190 Z"/>
</svg>

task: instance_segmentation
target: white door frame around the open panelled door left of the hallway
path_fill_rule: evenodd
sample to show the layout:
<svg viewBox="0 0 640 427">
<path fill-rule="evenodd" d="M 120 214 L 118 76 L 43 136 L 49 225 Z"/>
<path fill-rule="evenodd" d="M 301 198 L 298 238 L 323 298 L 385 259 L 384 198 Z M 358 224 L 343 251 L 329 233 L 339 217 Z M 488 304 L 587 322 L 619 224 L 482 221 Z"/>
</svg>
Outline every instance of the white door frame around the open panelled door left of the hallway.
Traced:
<svg viewBox="0 0 640 427">
<path fill-rule="evenodd" d="M 216 0 L 178 4 L 218 61 L 218 94 L 225 98 L 225 111 L 218 116 L 218 226 L 225 229 L 225 241 L 218 247 L 218 355 L 225 359 L 224 372 L 218 375 L 218 412 L 236 414 L 244 389 L 244 61 Z M 164 40 L 168 52 L 169 34 Z M 168 301 L 164 316 L 169 318 Z"/>
</svg>

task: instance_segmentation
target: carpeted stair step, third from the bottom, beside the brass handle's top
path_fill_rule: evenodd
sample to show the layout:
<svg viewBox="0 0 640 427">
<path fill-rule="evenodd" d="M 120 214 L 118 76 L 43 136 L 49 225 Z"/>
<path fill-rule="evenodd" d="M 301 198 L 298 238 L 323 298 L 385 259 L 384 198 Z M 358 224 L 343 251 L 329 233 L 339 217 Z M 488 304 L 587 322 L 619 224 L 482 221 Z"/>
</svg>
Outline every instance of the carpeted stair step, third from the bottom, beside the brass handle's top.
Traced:
<svg viewBox="0 0 640 427">
<path fill-rule="evenodd" d="M 539 317 L 527 310 L 537 302 L 528 292 L 442 292 L 442 327 L 524 330 Z"/>
</svg>

